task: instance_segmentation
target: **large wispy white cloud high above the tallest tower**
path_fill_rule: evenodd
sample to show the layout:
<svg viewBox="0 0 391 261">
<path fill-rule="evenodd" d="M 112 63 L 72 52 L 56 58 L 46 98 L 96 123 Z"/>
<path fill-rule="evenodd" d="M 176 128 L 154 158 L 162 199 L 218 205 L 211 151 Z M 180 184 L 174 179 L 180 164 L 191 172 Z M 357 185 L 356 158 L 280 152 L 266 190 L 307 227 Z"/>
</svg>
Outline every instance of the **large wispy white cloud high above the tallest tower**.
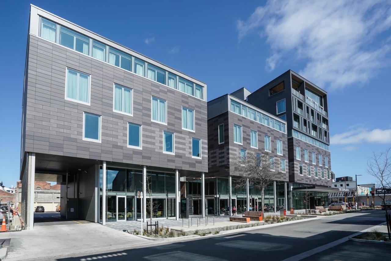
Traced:
<svg viewBox="0 0 391 261">
<path fill-rule="evenodd" d="M 390 42 L 381 34 L 390 28 L 387 0 L 269 0 L 237 21 L 239 41 L 254 32 L 266 38 L 268 70 L 284 58 L 304 58 L 299 73 L 330 88 L 367 82 L 389 66 Z"/>
</svg>

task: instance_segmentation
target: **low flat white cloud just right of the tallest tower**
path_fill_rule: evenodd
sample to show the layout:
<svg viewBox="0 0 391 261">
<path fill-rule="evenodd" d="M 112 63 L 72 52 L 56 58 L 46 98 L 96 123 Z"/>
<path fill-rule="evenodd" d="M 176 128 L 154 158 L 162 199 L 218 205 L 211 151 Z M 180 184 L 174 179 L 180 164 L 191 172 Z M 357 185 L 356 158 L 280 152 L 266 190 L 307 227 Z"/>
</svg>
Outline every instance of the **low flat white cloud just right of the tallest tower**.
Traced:
<svg viewBox="0 0 391 261">
<path fill-rule="evenodd" d="M 364 128 L 352 129 L 341 134 L 335 134 L 330 138 L 331 144 L 357 144 L 357 143 L 391 143 L 391 129 L 373 129 Z M 350 146 L 353 147 L 353 146 Z M 349 148 L 346 147 L 346 148 Z"/>
</svg>

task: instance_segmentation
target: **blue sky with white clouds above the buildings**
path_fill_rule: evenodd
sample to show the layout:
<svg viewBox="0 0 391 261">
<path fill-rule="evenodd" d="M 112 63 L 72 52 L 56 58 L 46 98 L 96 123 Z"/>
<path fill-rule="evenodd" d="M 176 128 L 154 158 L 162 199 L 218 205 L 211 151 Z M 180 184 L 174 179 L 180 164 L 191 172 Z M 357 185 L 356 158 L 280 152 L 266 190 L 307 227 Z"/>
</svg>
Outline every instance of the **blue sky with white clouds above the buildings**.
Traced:
<svg viewBox="0 0 391 261">
<path fill-rule="evenodd" d="M 2 1 L 0 180 L 19 179 L 29 4 L 208 84 L 208 100 L 255 91 L 292 69 L 328 91 L 331 165 L 366 174 L 372 150 L 391 146 L 388 1 Z"/>
</svg>

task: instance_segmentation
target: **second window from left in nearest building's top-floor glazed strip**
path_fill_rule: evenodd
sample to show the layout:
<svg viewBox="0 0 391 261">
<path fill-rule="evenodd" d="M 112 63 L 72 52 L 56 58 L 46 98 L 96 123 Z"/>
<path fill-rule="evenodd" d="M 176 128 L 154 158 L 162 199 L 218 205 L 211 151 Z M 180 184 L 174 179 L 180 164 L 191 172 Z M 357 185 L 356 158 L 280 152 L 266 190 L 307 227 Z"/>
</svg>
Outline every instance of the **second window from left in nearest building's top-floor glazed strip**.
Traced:
<svg viewBox="0 0 391 261">
<path fill-rule="evenodd" d="M 83 34 L 76 33 L 66 27 L 61 26 L 60 30 L 60 44 L 78 51 L 80 53 L 88 54 L 90 38 Z"/>
</svg>

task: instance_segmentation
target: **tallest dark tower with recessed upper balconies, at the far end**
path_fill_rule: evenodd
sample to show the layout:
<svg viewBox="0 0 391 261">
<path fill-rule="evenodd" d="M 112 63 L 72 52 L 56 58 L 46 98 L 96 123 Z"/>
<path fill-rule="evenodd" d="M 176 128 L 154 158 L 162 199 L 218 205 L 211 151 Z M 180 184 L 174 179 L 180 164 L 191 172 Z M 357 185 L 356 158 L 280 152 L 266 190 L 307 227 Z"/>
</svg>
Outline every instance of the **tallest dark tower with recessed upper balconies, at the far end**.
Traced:
<svg viewBox="0 0 391 261">
<path fill-rule="evenodd" d="M 331 185 L 327 92 L 289 70 L 248 94 L 247 101 L 286 121 L 289 207 L 328 205 Z"/>
</svg>

